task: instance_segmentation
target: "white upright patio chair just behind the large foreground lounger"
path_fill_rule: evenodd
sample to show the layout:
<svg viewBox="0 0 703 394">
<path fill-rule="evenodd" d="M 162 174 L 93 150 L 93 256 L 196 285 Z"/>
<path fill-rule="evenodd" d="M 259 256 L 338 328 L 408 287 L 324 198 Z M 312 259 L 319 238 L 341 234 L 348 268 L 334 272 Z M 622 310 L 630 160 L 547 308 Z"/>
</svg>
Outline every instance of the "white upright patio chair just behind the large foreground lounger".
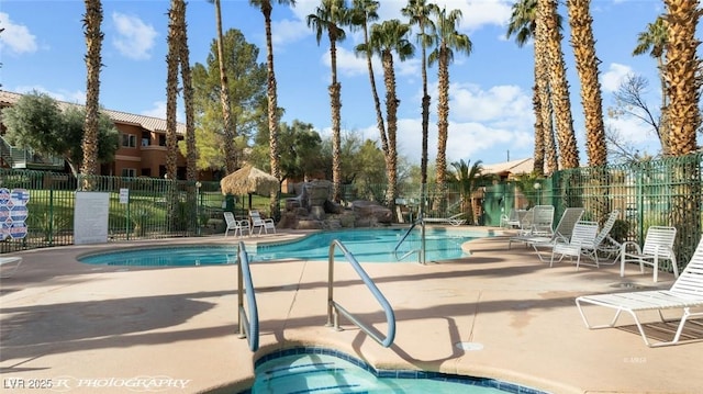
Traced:
<svg viewBox="0 0 703 394">
<path fill-rule="evenodd" d="M 625 263 L 628 261 L 639 262 L 639 272 L 645 273 L 645 264 L 652 266 L 654 281 L 657 281 L 659 272 L 659 260 L 668 259 L 673 267 L 673 277 L 679 278 L 679 268 L 677 267 L 677 255 L 673 252 L 673 241 L 677 237 L 676 227 L 650 226 L 647 228 L 645 245 L 628 240 L 621 246 L 621 264 L 620 275 L 625 275 Z M 632 247 L 634 251 L 627 251 Z"/>
</svg>

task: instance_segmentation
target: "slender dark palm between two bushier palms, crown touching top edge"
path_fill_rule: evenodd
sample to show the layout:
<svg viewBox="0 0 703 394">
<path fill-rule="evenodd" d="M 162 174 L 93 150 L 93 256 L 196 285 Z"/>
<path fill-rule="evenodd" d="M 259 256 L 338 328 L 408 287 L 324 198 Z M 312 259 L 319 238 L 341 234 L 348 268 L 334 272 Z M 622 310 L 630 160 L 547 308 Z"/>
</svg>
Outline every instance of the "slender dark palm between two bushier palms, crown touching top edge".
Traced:
<svg viewBox="0 0 703 394">
<path fill-rule="evenodd" d="M 401 12 L 410 19 L 411 25 L 417 25 L 420 34 L 417 42 L 422 48 L 422 157 L 420 159 L 420 183 L 425 187 L 427 183 L 427 139 L 429 135 L 429 103 L 431 97 L 427 92 L 427 47 L 432 45 L 432 37 L 425 32 L 434 29 L 434 23 L 429 19 L 431 10 L 437 9 L 437 4 L 427 3 L 426 0 L 408 0 Z M 423 192 L 424 195 L 424 192 Z M 424 204 L 421 204 L 421 211 Z M 421 212 L 422 213 L 422 212 Z"/>
</svg>

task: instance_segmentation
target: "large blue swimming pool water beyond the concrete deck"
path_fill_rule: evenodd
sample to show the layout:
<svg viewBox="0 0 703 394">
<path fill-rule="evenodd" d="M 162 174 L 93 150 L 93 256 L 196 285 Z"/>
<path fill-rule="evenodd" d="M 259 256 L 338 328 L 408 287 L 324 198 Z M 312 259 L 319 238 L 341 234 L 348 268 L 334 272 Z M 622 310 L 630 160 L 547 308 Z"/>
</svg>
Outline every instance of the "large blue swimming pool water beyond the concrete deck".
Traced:
<svg viewBox="0 0 703 394">
<path fill-rule="evenodd" d="M 413 230 L 400 246 L 395 245 L 406 228 L 349 229 L 315 233 L 290 243 L 259 244 L 247 246 L 249 259 L 270 261 L 281 259 L 326 261 L 330 243 L 339 239 L 359 262 L 397 262 L 410 250 L 420 249 L 420 230 Z M 449 228 L 427 228 L 425 232 L 425 259 L 439 261 L 467 256 L 461 244 L 486 237 L 484 232 Z M 338 251 L 338 248 L 336 248 Z M 342 254 L 338 254 L 341 257 Z M 113 252 L 100 252 L 80 257 L 90 264 L 108 266 L 215 266 L 236 262 L 236 245 L 230 246 L 170 246 L 140 248 Z M 417 262 L 417 255 L 406 256 L 402 261 Z"/>
</svg>

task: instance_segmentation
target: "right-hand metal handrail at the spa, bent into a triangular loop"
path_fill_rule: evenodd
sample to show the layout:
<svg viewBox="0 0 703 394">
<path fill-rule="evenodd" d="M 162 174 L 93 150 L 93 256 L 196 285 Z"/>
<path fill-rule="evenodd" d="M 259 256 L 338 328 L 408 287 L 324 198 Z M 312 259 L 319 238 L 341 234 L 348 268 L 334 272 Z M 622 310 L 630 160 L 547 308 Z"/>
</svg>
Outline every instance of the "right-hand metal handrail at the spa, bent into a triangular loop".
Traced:
<svg viewBox="0 0 703 394">
<path fill-rule="evenodd" d="M 376 297 L 376 300 L 381 304 L 383 312 L 386 313 L 386 320 L 388 323 L 388 334 L 386 338 L 381 338 L 377 335 L 369 326 L 365 325 L 361 320 L 357 319 L 352 313 L 345 309 L 339 303 L 334 301 L 333 290 L 334 290 L 334 249 L 338 247 L 339 250 L 344 254 L 344 257 L 349 261 L 354 270 L 359 274 L 366 286 L 371 291 L 371 294 Z M 380 344 L 382 347 L 388 348 L 393 345 L 393 340 L 395 339 L 395 315 L 393 313 L 393 308 L 390 303 L 380 290 L 376 286 L 376 283 L 371 280 L 371 278 L 366 273 L 361 264 L 357 261 L 357 259 L 347 250 L 347 248 L 338 240 L 334 239 L 330 243 L 330 262 L 328 262 L 328 282 L 327 282 L 327 323 L 325 326 L 335 327 L 335 329 L 341 330 L 339 328 L 339 313 L 346 316 L 352 323 L 354 323 L 357 327 L 359 327 L 364 333 L 366 333 L 369 337 Z M 333 323 L 334 320 L 334 323 Z"/>
</svg>

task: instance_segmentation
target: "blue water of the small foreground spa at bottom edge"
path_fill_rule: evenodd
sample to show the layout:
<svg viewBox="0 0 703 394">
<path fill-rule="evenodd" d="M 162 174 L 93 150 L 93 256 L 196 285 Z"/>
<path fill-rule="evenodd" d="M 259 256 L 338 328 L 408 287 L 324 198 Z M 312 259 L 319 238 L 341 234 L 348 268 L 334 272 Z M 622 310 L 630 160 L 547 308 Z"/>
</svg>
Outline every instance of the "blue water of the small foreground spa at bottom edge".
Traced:
<svg viewBox="0 0 703 394">
<path fill-rule="evenodd" d="M 423 371 L 377 371 L 361 360 L 325 348 L 294 348 L 256 362 L 247 394 L 406 393 L 544 394 L 493 379 Z"/>
</svg>

